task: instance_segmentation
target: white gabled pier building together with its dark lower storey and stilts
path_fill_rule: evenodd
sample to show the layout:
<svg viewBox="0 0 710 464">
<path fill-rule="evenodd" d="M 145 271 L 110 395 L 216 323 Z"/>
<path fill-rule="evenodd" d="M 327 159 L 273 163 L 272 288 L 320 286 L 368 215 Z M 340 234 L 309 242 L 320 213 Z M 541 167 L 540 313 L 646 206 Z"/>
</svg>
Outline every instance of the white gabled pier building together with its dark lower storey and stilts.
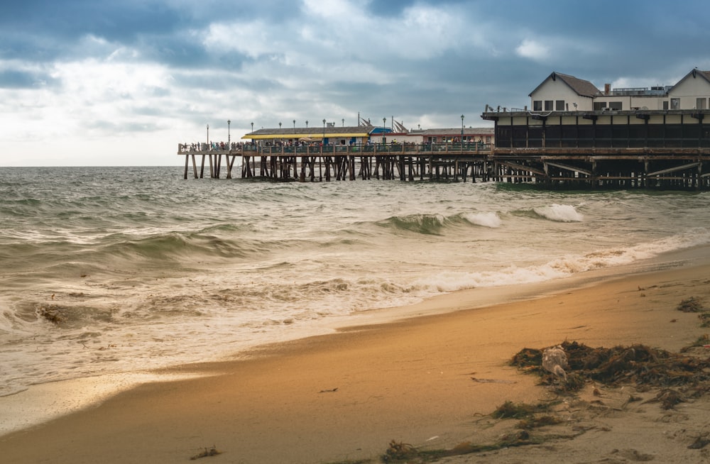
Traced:
<svg viewBox="0 0 710 464">
<path fill-rule="evenodd" d="M 550 187 L 710 188 L 710 72 L 674 86 L 611 89 L 553 72 L 531 108 L 495 109 L 491 159 Z"/>
</svg>

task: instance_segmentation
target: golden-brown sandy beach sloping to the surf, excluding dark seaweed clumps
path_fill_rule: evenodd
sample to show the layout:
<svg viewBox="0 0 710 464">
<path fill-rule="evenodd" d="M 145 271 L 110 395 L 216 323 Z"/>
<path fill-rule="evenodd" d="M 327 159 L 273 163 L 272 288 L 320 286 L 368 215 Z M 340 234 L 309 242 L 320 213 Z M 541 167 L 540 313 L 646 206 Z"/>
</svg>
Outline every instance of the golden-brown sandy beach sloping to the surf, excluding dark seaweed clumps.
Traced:
<svg viewBox="0 0 710 464">
<path fill-rule="evenodd" d="M 214 447 L 221 453 L 197 462 L 381 462 L 391 441 L 445 450 L 498 441 L 516 421 L 493 419 L 496 407 L 557 401 L 558 439 L 439 462 L 707 462 L 710 446 L 689 446 L 710 438 L 710 395 L 662 409 L 648 401 L 657 390 L 590 382 L 561 398 L 508 362 L 563 341 L 678 352 L 709 332 L 697 313 L 677 310 L 694 297 L 710 311 L 709 276 L 706 264 L 647 272 L 474 309 L 471 292 L 448 294 L 410 311 L 425 316 L 175 368 L 201 377 L 140 385 L 2 436 L 1 460 L 178 463 Z M 445 308 L 457 311 L 435 314 Z"/>
</svg>

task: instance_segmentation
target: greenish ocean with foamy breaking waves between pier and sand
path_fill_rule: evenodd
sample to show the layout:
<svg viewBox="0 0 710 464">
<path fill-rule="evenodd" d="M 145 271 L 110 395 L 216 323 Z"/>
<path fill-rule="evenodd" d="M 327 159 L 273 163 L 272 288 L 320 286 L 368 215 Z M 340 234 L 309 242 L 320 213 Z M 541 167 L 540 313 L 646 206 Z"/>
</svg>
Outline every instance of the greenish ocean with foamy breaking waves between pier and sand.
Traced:
<svg viewBox="0 0 710 464">
<path fill-rule="evenodd" d="M 710 255 L 710 192 L 0 168 L 0 396 L 219 360 L 459 289 Z"/>
</svg>

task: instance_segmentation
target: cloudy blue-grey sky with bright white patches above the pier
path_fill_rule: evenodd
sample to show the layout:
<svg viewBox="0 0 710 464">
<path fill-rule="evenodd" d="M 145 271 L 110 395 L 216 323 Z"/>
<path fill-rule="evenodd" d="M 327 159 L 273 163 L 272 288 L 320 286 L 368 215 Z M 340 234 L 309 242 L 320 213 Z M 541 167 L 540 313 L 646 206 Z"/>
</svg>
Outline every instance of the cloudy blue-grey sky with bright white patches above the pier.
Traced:
<svg viewBox="0 0 710 464">
<path fill-rule="evenodd" d="M 710 70 L 710 2 L 23 0 L 0 4 L 0 166 L 180 165 L 254 128 L 486 126 L 552 71 Z M 388 122 L 389 124 L 389 122 Z"/>
</svg>

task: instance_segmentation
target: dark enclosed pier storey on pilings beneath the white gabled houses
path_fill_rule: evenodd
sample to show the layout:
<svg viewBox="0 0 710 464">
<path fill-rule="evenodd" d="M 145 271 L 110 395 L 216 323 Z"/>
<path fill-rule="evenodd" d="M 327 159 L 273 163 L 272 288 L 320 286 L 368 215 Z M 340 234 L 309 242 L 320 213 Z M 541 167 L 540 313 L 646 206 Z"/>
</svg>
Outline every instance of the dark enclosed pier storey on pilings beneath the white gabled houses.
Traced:
<svg viewBox="0 0 710 464">
<path fill-rule="evenodd" d="M 495 164 L 553 187 L 710 188 L 710 111 L 484 113 Z"/>
</svg>

